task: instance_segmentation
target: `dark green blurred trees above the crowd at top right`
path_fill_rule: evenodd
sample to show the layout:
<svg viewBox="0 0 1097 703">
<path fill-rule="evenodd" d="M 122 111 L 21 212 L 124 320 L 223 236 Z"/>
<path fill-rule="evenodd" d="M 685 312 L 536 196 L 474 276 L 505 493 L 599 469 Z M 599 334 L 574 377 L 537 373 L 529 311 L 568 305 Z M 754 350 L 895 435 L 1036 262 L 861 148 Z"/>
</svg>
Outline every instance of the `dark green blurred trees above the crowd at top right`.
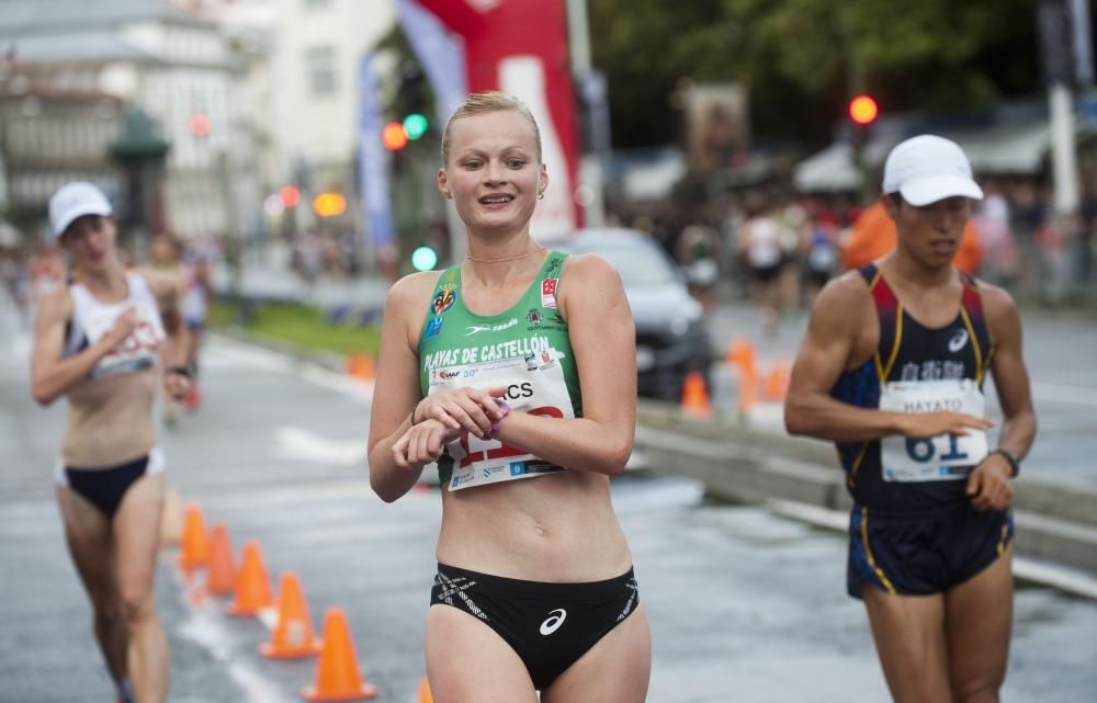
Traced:
<svg viewBox="0 0 1097 703">
<path fill-rule="evenodd" d="M 864 90 L 958 112 L 1040 89 L 1031 0 L 588 0 L 617 147 L 665 144 L 682 80 L 749 89 L 756 135 L 825 138 Z"/>
</svg>

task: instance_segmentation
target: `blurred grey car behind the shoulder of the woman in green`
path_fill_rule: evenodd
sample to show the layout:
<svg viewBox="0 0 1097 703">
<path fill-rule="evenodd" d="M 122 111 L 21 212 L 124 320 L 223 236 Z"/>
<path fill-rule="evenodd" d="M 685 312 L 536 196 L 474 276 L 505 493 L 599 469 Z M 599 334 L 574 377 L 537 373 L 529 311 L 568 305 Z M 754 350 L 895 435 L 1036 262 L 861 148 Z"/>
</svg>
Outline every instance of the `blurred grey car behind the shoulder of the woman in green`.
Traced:
<svg viewBox="0 0 1097 703">
<path fill-rule="evenodd" d="M 570 237 L 543 239 L 546 247 L 593 253 L 621 274 L 636 322 L 640 395 L 677 401 L 690 371 L 709 381 L 709 330 L 686 279 L 651 236 L 632 229 L 580 229 Z"/>
</svg>

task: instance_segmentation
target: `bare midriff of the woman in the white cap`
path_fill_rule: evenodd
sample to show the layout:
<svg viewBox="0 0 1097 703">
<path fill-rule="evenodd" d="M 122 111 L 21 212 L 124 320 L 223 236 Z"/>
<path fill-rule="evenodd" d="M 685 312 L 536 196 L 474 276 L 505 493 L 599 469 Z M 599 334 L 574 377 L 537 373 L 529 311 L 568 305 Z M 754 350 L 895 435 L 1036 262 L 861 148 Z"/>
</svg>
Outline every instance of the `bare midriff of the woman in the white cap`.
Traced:
<svg viewBox="0 0 1097 703">
<path fill-rule="evenodd" d="M 156 445 L 152 401 L 159 371 L 150 368 L 83 381 L 68 393 L 61 442 L 66 466 L 110 468 Z"/>
</svg>

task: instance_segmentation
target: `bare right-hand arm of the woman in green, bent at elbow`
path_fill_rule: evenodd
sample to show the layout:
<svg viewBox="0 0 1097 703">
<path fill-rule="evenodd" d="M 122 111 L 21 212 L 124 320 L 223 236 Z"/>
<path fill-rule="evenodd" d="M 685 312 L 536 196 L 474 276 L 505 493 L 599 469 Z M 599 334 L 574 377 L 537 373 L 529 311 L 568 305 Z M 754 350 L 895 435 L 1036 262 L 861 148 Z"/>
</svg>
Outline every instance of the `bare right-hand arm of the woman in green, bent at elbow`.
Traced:
<svg viewBox="0 0 1097 703">
<path fill-rule="evenodd" d="M 636 428 L 636 328 L 621 276 L 604 260 L 568 257 L 561 315 L 583 388 L 583 417 L 511 412 L 499 440 L 559 466 L 596 474 L 624 470 Z"/>
</svg>

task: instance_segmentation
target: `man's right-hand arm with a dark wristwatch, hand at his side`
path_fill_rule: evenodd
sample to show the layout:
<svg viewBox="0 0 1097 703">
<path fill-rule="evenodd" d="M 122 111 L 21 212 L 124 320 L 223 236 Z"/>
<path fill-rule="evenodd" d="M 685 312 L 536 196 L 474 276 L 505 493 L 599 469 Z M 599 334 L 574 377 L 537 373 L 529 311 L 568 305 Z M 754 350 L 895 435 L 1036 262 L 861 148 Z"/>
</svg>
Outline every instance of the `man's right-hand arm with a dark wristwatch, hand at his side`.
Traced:
<svg viewBox="0 0 1097 703">
<path fill-rule="evenodd" d="M 1032 390 L 1028 370 L 1021 352 L 1021 320 L 1017 305 L 1009 294 L 981 284 L 983 310 L 994 344 L 991 373 L 1002 404 L 1004 422 L 998 446 L 1018 460 L 1028 454 L 1036 438 L 1036 412 L 1032 410 Z M 1013 469 L 1002 454 L 991 454 L 968 479 L 968 495 L 972 504 L 981 510 L 1003 510 L 1013 498 L 1008 478 Z"/>
</svg>

